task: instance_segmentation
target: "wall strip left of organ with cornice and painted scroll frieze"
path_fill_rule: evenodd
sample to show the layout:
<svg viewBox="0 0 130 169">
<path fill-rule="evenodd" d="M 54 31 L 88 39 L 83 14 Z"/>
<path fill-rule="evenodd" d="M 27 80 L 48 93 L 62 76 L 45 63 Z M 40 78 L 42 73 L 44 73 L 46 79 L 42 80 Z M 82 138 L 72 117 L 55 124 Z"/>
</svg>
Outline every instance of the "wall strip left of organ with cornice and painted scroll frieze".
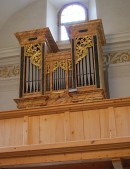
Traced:
<svg viewBox="0 0 130 169">
<path fill-rule="evenodd" d="M 0 111 L 17 109 L 13 99 L 19 97 L 19 53 L 20 47 L 0 49 Z"/>
</svg>

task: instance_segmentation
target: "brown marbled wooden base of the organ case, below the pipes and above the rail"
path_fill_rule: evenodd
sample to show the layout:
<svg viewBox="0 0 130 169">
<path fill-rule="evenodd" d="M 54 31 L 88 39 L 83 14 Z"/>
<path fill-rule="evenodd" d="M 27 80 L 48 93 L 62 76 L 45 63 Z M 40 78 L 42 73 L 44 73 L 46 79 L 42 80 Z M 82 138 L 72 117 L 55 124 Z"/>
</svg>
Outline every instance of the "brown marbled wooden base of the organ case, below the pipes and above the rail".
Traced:
<svg viewBox="0 0 130 169">
<path fill-rule="evenodd" d="M 49 105 L 63 105 L 69 103 L 95 102 L 105 98 L 103 89 L 97 89 L 96 86 L 81 87 L 75 92 L 54 91 L 41 96 L 23 97 L 14 99 L 17 108 L 25 109 L 31 107 L 41 107 Z"/>
</svg>

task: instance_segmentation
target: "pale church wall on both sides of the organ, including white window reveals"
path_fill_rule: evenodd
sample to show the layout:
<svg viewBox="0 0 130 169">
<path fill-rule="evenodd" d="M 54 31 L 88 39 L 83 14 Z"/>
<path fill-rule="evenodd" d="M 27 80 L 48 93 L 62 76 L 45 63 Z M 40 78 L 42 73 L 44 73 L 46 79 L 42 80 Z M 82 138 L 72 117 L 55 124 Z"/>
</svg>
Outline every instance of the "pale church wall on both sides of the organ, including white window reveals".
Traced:
<svg viewBox="0 0 130 169">
<path fill-rule="evenodd" d="M 129 0 L 92 0 L 88 7 L 90 19 L 103 21 L 107 41 L 103 57 L 107 58 L 110 97 L 130 96 Z M 38 0 L 13 15 L 0 30 L 0 111 L 16 109 L 13 99 L 18 98 L 20 46 L 14 33 L 48 26 L 57 40 L 58 10 L 51 2 Z M 122 56 L 124 59 L 120 59 Z"/>
</svg>

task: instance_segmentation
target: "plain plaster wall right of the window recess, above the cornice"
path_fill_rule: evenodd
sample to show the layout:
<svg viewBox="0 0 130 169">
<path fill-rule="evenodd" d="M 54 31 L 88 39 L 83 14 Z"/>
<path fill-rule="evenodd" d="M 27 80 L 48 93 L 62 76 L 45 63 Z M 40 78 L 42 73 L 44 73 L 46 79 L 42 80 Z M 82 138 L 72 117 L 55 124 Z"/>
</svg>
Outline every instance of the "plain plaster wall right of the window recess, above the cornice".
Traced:
<svg viewBox="0 0 130 169">
<path fill-rule="evenodd" d="M 96 0 L 96 6 L 105 34 L 130 30 L 130 0 Z"/>
</svg>

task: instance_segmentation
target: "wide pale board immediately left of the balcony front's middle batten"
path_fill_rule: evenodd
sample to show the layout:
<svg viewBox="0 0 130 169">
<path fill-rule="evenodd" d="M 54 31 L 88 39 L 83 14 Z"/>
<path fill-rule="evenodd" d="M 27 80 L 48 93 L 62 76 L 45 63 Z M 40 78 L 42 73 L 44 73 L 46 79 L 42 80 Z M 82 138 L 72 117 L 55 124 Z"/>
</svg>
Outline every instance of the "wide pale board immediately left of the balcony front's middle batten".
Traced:
<svg viewBox="0 0 130 169">
<path fill-rule="evenodd" d="M 64 142 L 64 118 L 62 114 L 40 116 L 40 143 Z"/>
</svg>

